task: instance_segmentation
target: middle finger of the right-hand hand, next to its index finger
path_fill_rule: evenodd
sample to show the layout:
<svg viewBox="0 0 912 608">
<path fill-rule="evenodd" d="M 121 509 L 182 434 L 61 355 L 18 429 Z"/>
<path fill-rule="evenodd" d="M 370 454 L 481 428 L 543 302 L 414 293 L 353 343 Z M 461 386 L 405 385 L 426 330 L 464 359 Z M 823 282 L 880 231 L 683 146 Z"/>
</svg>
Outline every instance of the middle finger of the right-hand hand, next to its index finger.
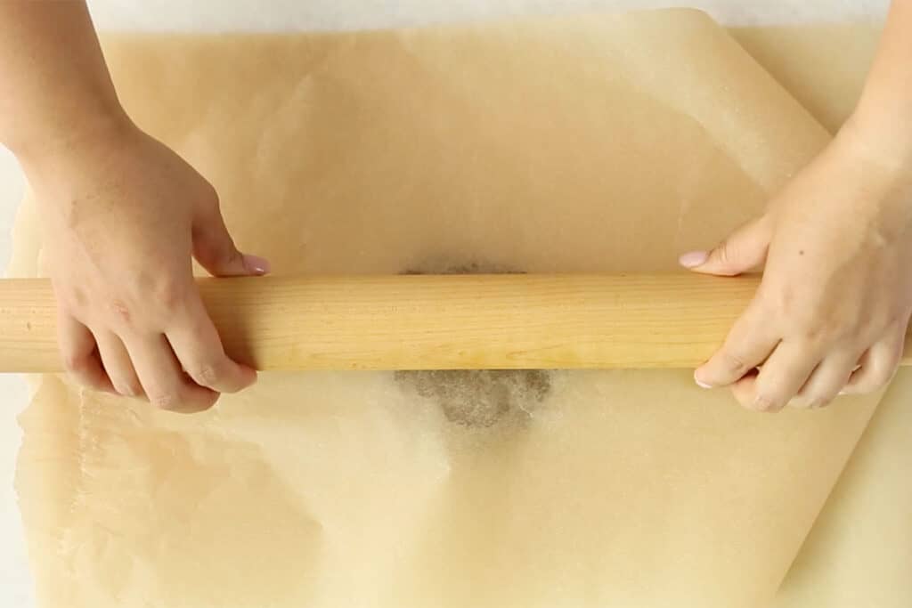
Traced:
<svg viewBox="0 0 912 608">
<path fill-rule="evenodd" d="M 763 364 L 745 405 L 757 411 L 778 412 L 798 394 L 820 362 L 820 354 L 806 343 L 779 343 Z"/>
</svg>

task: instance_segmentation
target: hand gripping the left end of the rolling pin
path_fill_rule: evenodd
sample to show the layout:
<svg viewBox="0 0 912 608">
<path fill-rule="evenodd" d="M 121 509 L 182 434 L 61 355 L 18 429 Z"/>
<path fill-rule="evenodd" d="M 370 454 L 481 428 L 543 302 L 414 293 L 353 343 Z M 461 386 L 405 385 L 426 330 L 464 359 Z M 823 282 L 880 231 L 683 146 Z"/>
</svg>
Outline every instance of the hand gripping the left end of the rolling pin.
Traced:
<svg viewBox="0 0 912 608">
<path fill-rule="evenodd" d="M 254 383 L 254 370 L 224 353 L 191 256 L 216 276 L 264 274 L 268 264 L 235 248 L 209 182 L 129 121 L 25 169 L 61 352 L 81 384 L 199 411 Z"/>
</svg>

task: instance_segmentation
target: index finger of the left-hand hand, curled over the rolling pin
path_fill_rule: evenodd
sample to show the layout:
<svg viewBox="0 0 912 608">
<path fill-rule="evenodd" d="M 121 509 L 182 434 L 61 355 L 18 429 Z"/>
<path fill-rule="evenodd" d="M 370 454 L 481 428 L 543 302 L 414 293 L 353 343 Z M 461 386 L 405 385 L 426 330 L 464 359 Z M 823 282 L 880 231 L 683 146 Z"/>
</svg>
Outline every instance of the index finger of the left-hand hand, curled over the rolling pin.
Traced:
<svg viewBox="0 0 912 608">
<path fill-rule="evenodd" d="M 225 355 L 215 325 L 196 298 L 186 314 L 168 331 L 168 341 L 187 374 L 200 386 L 219 393 L 236 393 L 254 384 L 256 372 Z"/>
</svg>

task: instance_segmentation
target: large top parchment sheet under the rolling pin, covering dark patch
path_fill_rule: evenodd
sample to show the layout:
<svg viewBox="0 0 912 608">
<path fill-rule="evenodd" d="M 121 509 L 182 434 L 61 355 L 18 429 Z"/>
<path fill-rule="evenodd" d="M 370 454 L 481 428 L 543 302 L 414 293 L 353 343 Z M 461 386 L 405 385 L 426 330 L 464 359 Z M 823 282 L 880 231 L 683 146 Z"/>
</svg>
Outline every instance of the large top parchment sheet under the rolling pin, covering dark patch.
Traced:
<svg viewBox="0 0 912 608">
<path fill-rule="evenodd" d="M 828 140 L 693 11 L 105 48 L 277 273 L 672 269 Z M 45 376 L 17 486 L 47 606 L 763 606 L 877 402 L 349 372 L 188 417 Z"/>
</svg>

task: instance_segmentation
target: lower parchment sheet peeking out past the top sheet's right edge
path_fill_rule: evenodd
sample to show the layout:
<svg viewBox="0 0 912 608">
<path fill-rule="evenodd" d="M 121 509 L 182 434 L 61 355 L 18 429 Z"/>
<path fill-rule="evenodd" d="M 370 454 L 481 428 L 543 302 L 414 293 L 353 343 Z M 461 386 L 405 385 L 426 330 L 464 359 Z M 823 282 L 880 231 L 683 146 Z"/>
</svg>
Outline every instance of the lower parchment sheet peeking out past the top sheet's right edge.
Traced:
<svg viewBox="0 0 912 608">
<path fill-rule="evenodd" d="M 876 50 L 872 23 L 736 28 L 732 35 L 832 132 L 848 118 Z M 912 370 L 900 369 L 774 608 L 912 605 Z"/>
</svg>

